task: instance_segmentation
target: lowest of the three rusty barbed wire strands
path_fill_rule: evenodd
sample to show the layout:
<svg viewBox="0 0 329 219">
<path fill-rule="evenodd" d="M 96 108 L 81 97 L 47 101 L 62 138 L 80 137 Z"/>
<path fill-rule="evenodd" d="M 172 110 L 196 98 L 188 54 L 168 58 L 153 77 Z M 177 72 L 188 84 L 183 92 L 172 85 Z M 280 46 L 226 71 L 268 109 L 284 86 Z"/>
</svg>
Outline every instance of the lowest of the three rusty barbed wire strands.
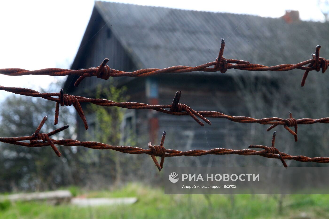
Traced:
<svg viewBox="0 0 329 219">
<path fill-rule="evenodd" d="M 56 148 L 56 145 L 62 146 L 83 146 L 91 149 L 110 149 L 126 154 L 148 154 L 151 155 L 152 160 L 154 161 L 156 167 L 159 171 L 162 170 L 164 164 L 165 157 L 178 157 L 178 156 L 203 156 L 203 155 L 230 155 L 230 154 L 237 154 L 237 155 L 259 155 L 266 158 L 276 158 L 280 159 L 284 167 L 287 168 L 287 164 L 285 160 L 296 160 L 300 162 L 317 162 L 317 163 L 329 163 L 328 157 L 316 157 L 316 158 L 309 158 L 306 156 L 291 156 L 286 153 L 280 152 L 277 148 L 274 147 L 275 143 L 275 132 L 273 132 L 272 143 L 271 147 L 263 146 L 263 145 L 249 145 L 249 148 L 261 148 L 264 150 L 256 151 L 251 149 L 242 149 L 242 150 L 233 150 L 233 149 L 226 149 L 226 148 L 214 148 L 211 150 L 190 150 L 190 151 L 178 151 L 172 149 L 165 149 L 164 148 L 164 138 L 165 132 L 162 134 L 161 143 L 160 145 L 152 145 L 148 143 L 149 149 L 143 149 L 138 147 L 131 147 L 131 146 L 113 146 L 109 144 L 104 144 L 95 141 L 78 141 L 74 139 L 60 139 L 55 140 L 50 138 L 49 136 L 59 133 L 68 128 L 68 125 L 63 126 L 62 128 L 56 129 L 48 134 L 39 133 L 40 129 L 42 128 L 43 124 L 47 120 L 47 116 L 43 118 L 40 125 L 38 126 L 36 132 L 31 136 L 24 136 L 24 137 L 0 137 L 1 142 L 20 145 L 25 147 L 45 147 L 51 146 L 51 148 L 55 151 L 58 157 L 61 156 L 61 153 Z M 28 142 L 22 142 L 25 140 L 30 140 Z M 156 157 L 161 157 L 160 164 Z"/>
</svg>

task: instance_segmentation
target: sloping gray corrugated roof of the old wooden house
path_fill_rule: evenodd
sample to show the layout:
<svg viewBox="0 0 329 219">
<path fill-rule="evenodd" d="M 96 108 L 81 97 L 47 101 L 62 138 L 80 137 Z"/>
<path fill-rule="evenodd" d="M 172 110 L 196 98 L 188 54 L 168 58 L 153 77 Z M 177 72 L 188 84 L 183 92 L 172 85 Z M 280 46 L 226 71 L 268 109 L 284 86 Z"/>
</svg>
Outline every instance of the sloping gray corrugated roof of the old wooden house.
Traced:
<svg viewBox="0 0 329 219">
<path fill-rule="evenodd" d="M 102 1 L 95 9 L 138 68 L 215 61 L 222 37 L 225 58 L 264 65 L 310 59 L 318 44 L 320 56 L 329 53 L 326 23 Z"/>
</svg>

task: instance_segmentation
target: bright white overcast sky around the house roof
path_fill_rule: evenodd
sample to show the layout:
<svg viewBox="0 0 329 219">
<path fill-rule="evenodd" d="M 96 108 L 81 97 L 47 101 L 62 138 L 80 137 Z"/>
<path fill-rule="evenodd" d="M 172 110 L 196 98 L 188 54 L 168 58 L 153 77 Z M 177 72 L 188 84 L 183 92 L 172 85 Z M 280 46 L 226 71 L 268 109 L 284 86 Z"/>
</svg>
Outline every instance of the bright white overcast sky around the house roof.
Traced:
<svg viewBox="0 0 329 219">
<path fill-rule="evenodd" d="M 285 10 L 298 10 L 302 20 L 324 20 L 317 0 L 117 2 L 266 17 L 280 17 Z M 92 0 L 0 1 L 0 68 L 69 68 L 87 27 L 93 5 Z M 0 85 L 38 90 L 40 86 L 47 88 L 50 82 L 58 79 L 51 76 L 0 75 Z M 7 95 L 5 91 L 0 91 L 0 100 Z"/>
</svg>

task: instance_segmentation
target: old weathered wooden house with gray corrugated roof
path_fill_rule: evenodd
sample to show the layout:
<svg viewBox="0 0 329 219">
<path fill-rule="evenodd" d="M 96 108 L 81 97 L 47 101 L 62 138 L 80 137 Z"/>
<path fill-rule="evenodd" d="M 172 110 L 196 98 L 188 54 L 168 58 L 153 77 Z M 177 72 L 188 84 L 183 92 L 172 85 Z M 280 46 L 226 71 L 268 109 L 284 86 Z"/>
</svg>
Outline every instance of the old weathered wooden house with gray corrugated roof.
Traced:
<svg viewBox="0 0 329 219">
<path fill-rule="evenodd" d="M 298 63 L 311 58 L 317 44 L 327 43 L 328 26 L 300 20 L 287 22 L 284 18 L 96 1 L 71 69 L 96 67 L 105 57 L 109 58 L 111 68 L 123 71 L 196 66 L 215 61 L 222 37 L 226 42 L 225 58 L 267 66 Z M 328 48 L 321 52 L 328 54 Z M 69 76 L 64 88 L 68 94 L 93 97 L 90 91 L 96 85 L 126 86 L 129 101 L 151 105 L 171 104 L 176 91 L 180 90 L 180 103 L 192 109 L 248 116 L 243 97 L 236 94 L 235 79 L 241 76 L 272 77 L 273 73 L 231 69 L 225 74 L 168 73 L 139 78 L 111 77 L 107 81 L 90 77 L 79 87 L 73 86 L 77 77 Z M 95 120 L 92 113 L 86 117 L 88 131 L 92 132 Z M 190 116 L 128 109 L 122 126 L 123 130 L 144 136 L 139 147 L 147 148 L 148 141 L 159 144 L 162 132 L 166 131 L 165 146 L 179 150 L 229 147 L 225 143 L 228 135 L 234 133 L 239 138 L 248 133 L 244 129 L 246 124 L 218 118 L 210 120 L 211 126 L 201 127 Z M 84 139 L 86 130 L 79 117 L 77 132 L 78 139 Z M 123 131 L 123 138 L 129 137 L 124 133 L 129 132 Z"/>
</svg>

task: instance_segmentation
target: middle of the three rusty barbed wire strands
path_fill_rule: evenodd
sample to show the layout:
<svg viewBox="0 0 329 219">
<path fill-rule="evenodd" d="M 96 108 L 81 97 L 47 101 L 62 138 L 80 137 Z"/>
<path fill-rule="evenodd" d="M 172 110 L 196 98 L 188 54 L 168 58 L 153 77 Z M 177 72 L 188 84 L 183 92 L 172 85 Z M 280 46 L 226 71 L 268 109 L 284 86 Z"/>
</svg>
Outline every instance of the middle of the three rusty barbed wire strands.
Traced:
<svg viewBox="0 0 329 219">
<path fill-rule="evenodd" d="M 297 141 L 298 125 L 308 125 L 314 123 L 329 123 L 329 117 L 320 118 L 320 119 L 311 119 L 311 118 L 295 119 L 292 117 L 291 112 L 289 112 L 289 118 L 287 119 L 282 119 L 278 117 L 255 119 L 247 116 L 226 115 L 224 113 L 217 111 L 196 111 L 194 109 L 191 109 L 186 104 L 179 103 L 179 99 L 182 94 L 181 91 L 176 92 L 176 95 L 171 105 L 148 105 L 144 103 L 135 103 L 135 102 L 116 103 L 114 101 L 105 100 L 105 99 L 91 99 L 86 97 L 73 96 L 69 94 L 64 94 L 63 90 L 61 90 L 60 93 L 39 93 L 38 91 L 32 89 L 21 88 L 21 87 L 5 87 L 5 86 L 0 86 L 0 90 L 5 90 L 25 96 L 42 97 L 46 100 L 51 100 L 56 102 L 55 125 L 58 122 L 60 105 L 61 106 L 73 105 L 74 108 L 77 110 L 79 116 L 83 120 L 86 130 L 88 129 L 88 123 L 84 115 L 84 112 L 80 106 L 80 103 L 86 103 L 86 102 L 96 104 L 99 106 L 105 106 L 105 107 L 121 107 L 126 109 L 153 109 L 171 115 L 190 115 L 201 126 L 204 126 L 204 123 L 201 122 L 198 118 L 202 119 L 203 121 L 211 125 L 211 122 L 206 117 L 224 118 L 239 123 L 259 123 L 263 125 L 271 125 L 269 128 L 267 128 L 267 131 L 270 131 L 271 129 L 273 129 L 278 125 L 283 125 L 283 127 L 294 136 L 295 141 Z M 289 127 L 294 127 L 294 131 L 292 131 Z"/>
</svg>

